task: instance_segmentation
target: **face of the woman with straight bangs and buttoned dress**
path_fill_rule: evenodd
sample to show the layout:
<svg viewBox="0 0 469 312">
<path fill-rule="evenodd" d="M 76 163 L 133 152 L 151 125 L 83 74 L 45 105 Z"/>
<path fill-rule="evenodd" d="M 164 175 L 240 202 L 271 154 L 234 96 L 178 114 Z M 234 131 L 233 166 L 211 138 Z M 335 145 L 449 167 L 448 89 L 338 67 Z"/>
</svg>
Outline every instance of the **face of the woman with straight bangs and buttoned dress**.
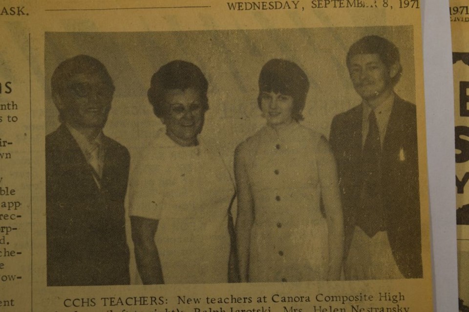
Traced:
<svg viewBox="0 0 469 312">
<path fill-rule="evenodd" d="M 263 91 L 260 94 L 260 109 L 271 126 L 287 125 L 293 121 L 291 96 Z"/>
</svg>

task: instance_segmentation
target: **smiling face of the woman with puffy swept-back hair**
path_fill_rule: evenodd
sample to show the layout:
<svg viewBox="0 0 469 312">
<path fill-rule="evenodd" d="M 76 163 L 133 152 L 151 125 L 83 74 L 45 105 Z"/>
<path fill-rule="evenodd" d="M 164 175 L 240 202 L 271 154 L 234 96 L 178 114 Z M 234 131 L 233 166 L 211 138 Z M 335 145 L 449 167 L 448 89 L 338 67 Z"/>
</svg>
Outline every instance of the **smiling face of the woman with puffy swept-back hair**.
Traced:
<svg viewBox="0 0 469 312">
<path fill-rule="evenodd" d="M 162 121 L 168 136 L 181 146 L 197 145 L 205 115 L 200 92 L 193 88 L 171 89 L 166 91 L 165 101 L 168 112 Z"/>
</svg>

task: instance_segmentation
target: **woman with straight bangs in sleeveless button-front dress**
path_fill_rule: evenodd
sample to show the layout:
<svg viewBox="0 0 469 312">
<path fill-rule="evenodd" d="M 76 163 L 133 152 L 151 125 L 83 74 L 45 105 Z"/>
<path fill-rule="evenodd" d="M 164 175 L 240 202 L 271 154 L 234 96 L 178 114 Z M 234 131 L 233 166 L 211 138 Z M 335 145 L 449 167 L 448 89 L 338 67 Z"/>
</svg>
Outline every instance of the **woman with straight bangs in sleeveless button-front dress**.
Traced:
<svg viewBox="0 0 469 312">
<path fill-rule="evenodd" d="M 258 105 L 267 123 L 235 151 L 243 282 L 340 279 L 336 163 L 326 139 L 299 124 L 308 89 L 294 62 L 271 59 L 260 72 Z"/>
</svg>

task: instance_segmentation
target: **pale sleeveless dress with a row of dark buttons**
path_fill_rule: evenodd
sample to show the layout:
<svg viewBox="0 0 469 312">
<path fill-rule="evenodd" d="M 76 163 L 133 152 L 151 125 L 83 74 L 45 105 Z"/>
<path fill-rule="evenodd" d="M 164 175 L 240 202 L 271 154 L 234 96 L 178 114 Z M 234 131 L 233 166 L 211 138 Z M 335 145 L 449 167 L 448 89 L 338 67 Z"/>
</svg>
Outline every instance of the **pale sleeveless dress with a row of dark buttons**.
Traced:
<svg viewBox="0 0 469 312">
<path fill-rule="evenodd" d="M 326 278 L 327 223 L 320 211 L 317 158 L 321 135 L 292 123 L 277 132 L 264 126 L 244 144 L 254 197 L 251 282 Z"/>
</svg>

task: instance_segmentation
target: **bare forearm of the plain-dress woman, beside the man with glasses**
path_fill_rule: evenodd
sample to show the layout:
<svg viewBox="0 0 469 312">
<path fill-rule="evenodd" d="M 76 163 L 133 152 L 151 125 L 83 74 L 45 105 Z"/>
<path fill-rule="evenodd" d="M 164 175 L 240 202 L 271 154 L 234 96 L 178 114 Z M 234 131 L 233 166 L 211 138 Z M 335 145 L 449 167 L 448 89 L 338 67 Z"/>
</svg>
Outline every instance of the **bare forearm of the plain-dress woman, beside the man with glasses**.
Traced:
<svg viewBox="0 0 469 312">
<path fill-rule="evenodd" d="M 164 284 L 160 257 L 155 244 L 158 220 L 130 216 L 130 224 L 135 246 L 135 260 L 142 282 L 146 285 Z"/>
</svg>

